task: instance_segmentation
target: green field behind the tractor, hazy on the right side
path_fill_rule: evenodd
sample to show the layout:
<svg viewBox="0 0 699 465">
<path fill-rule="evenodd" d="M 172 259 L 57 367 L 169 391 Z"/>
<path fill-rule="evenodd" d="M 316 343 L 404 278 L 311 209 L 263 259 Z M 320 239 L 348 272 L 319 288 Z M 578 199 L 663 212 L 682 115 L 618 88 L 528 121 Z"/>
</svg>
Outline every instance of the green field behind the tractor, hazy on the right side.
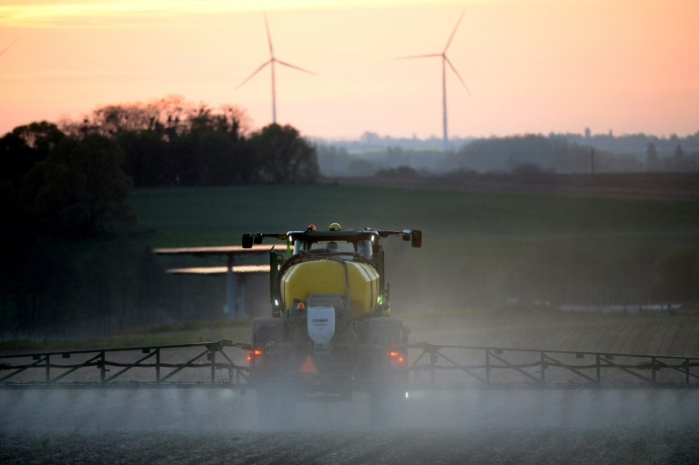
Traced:
<svg viewBox="0 0 699 465">
<path fill-rule="evenodd" d="M 545 287 L 549 275 L 567 276 L 558 287 L 638 294 L 654 261 L 699 246 L 696 200 L 308 185 L 139 190 L 131 203 L 153 247 L 238 244 L 244 232 L 309 223 L 421 229 L 421 250 L 384 242 L 407 306 L 497 306 L 517 282 Z M 484 295 L 472 299 L 472 287 Z"/>
</svg>

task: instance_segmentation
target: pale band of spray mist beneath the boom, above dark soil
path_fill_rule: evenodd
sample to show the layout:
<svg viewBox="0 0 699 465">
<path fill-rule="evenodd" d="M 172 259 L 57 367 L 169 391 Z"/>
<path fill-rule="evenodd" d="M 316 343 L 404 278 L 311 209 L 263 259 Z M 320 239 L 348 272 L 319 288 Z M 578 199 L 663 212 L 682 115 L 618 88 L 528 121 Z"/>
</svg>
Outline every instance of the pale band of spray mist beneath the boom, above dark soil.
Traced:
<svg viewBox="0 0 699 465">
<path fill-rule="evenodd" d="M 240 433 L 264 431 L 254 390 L 110 389 L 0 392 L 3 435 L 110 432 Z M 400 420 L 390 427 L 368 422 L 366 394 L 349 401 L 307 401 L 285 433 L 342 434 L 371 430 L 634 429 L 696 427 L 699 396 L 664 389 L 465 389 L 408 392 Z"/>
</svg>

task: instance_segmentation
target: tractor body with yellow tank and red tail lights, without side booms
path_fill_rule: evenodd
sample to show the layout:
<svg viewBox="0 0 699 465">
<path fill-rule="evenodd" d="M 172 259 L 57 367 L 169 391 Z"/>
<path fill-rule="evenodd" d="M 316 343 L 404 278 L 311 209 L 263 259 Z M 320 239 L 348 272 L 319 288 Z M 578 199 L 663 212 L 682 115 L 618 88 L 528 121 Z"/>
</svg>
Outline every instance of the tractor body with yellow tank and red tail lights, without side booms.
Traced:
<svg viewBox="0 0 699 465">
<path fill-rule="evenodd" d="M 408 325 L 391 316 L 380 241 L 421 247 L 419 230 L 343 229 L 244 234 L 270 252 L 271 317 L 252 322 L 250 385 L 263 422 L 293 421 L 296 401 L 349 400 L 368 392 L 373 422 L 396 416 L 408 384 Z"/>
</svg>

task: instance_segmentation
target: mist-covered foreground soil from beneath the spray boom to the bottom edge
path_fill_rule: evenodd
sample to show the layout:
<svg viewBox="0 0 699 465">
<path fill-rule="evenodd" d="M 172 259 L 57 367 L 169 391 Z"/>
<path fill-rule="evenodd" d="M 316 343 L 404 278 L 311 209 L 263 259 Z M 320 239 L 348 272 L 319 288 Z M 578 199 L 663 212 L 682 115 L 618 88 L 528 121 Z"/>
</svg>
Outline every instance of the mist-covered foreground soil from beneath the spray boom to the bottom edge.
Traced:
<svg viewBox="0 0 699 465">
<path fill-rule="evenodd" d="M 302 403 L 262 429 L 254 392 L 0 392 L 0 464 L 696 464 L 699 392 L 411 392 Z"/>
</svg>

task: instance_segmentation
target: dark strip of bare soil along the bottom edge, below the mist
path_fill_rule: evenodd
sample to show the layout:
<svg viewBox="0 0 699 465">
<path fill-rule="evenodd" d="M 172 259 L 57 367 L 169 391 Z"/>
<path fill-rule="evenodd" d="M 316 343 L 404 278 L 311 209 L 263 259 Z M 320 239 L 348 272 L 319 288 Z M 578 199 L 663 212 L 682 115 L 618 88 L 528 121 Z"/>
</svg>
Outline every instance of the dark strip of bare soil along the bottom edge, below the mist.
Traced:
<svg viewBox="0 0 699 465">
<path fill-rule="evenodd" d="M 699 429 L 491 427 L 397 431 L 0 436 L 3 464 L 696 464 Z"/>
</svg>

